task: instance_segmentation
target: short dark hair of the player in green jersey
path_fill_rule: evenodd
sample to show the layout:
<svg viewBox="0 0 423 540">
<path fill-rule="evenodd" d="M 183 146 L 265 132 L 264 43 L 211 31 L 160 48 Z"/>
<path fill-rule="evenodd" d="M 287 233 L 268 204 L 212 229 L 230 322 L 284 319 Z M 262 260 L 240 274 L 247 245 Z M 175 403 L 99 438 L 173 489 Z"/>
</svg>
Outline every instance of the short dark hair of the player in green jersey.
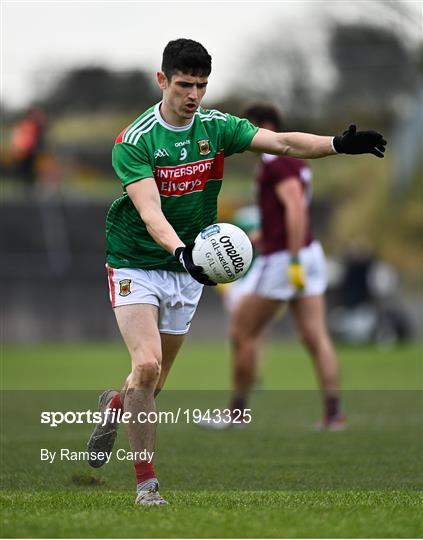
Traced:
<svg viewBox="0 0 423 540">
<path fill-rule="evenodd" d="M 162 71 L 169 81 L 177 71 L 207 77 L 211 72 L 211 56 L 197 41 L 175 39 L 169 41 L 163 51 Z"/>
</svg>

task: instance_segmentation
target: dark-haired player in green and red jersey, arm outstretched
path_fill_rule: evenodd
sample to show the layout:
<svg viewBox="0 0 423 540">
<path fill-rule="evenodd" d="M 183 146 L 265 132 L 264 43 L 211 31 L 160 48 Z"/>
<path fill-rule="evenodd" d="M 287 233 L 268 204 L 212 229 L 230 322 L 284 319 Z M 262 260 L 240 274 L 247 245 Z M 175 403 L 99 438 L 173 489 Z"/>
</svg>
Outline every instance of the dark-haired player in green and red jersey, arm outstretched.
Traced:
<svg viewBox="0 0 423 540">
<path fill-rule="evenodd" d="M 211 72 L 206 49 L 190 39 L 169 42 L 157 82 L 160 103 L 141 114 L 117 137 L 112 163 L 123 186 L 106 221 L 110 300 L 129 351 L 131 370 L 121 392 L 100 396 L 101 411 L 123 409 L 131 417 L 155 410 L 188 332 L 204 285 L 214 285 L 192 261 L 196 235 L 216 222 L 224 158 L 240 152 L 320 158 L 337 153 L 383 157 L 386 141 L 375 131 L 355 126 L 337 137 L 276 133 L 247 119 L 206 110 L 201 101 Z M 107 415 L 88 449 L 105 463 L 118 425 Z M 132 452 L 151 454 L 155 424 L 129 422 Z M 154 462 L 135 460 L 139 505 L 160 505 Z"/>
</svg>

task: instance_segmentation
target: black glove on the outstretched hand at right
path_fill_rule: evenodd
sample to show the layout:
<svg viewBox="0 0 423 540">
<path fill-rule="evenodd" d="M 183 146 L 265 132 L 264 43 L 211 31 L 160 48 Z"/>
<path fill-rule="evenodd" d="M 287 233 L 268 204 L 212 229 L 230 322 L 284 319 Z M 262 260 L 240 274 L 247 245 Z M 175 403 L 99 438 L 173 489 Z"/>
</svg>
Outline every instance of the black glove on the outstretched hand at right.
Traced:
<svg viewBox="0 0 423 540">
<path fill-rule="evenodd" d="M 377 131 L 357 131 L 351 124 L 342 135 L 333 138 L 333 147 L 338 154 L 373 154 L 383 157 L 386 141 Z"/>
</svg>

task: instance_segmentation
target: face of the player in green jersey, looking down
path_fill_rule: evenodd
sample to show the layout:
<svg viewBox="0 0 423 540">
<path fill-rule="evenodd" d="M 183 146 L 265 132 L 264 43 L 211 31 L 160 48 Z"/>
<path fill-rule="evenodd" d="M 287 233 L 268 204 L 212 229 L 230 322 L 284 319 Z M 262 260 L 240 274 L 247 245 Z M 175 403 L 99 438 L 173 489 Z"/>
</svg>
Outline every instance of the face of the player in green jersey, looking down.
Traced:
<svg viewBox="0 0 423 540">
<path fill-rule="evenodd" d="M 173 125 L 189 124 L 206 93 L 208 77 L 178 71 L 169 81 L 159 72 L 157 80 L 163 90 L 161 113 L 164 119 Z"/>
</svg>

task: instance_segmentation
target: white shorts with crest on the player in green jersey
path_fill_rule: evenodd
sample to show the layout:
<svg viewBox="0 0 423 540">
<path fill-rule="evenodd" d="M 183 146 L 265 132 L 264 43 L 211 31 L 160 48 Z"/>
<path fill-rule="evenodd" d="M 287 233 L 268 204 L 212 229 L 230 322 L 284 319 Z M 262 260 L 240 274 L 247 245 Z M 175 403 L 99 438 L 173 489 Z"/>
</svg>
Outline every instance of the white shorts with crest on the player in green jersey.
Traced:
<svg viewBox="0 0 423 540">
<path fill-rule="evenodd" d="M 185 272 L 107 266 L 112 307 L 151 304 L 159 308 L 159 332 L 186 334 L 203 285 Z"/>
</svg>

